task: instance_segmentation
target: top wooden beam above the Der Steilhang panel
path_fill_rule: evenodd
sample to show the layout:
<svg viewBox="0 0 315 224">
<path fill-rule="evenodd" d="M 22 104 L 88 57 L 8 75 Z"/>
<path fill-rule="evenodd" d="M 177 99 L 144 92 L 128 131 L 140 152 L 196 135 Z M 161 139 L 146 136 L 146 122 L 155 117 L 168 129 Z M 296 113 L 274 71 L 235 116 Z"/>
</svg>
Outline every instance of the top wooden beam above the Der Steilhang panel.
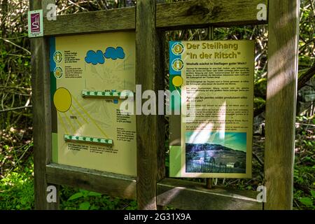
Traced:
<svg viewBox="0 0 315 224">
<path fill-rule="evenodd" d="M 158 28 L 183 29 L 191 27 L 258 25 L 257 6 L 267 0 L 194 0 L 163 3 L 157 6 Z"/>
</svg>

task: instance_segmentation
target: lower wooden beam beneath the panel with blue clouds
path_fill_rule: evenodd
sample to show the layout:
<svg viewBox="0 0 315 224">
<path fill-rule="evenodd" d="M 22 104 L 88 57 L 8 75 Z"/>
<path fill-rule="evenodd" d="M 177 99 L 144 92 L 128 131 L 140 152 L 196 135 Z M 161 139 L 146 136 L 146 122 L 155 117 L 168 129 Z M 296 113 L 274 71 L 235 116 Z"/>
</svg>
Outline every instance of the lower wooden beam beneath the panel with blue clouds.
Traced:
<svg viewBox="0 0 315 224">
<path fill-rule="evenodd" d="M 137 181 L 135 177 L 94 169 L 85 169 L 51 163 L 46 166 L 47 180 L 58 185 L 82 188 L 106 195 L 136 199 Z"/>
</svg>

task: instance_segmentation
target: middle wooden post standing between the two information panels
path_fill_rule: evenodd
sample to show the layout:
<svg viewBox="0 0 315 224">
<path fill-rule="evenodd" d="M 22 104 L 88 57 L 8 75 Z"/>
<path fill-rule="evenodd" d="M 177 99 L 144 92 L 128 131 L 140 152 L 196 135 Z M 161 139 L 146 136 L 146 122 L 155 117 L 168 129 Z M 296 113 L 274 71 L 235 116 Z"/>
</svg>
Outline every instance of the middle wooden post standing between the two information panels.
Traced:
<svg viewBox="0 0 315 224">
<path fill-rule="evenodd" d="M 155 1 L 137 1 L 136 83 L 143 92 L 153 90 L 158 96 L 158 90 L 164 90 L 165 38 L 164 32 L 155 28 L 155 8 Z M 165 176 L 164 141 L 163 116 L 137 115 L 138 209 L 157 209 L 157 182 Z"/>
</svg>

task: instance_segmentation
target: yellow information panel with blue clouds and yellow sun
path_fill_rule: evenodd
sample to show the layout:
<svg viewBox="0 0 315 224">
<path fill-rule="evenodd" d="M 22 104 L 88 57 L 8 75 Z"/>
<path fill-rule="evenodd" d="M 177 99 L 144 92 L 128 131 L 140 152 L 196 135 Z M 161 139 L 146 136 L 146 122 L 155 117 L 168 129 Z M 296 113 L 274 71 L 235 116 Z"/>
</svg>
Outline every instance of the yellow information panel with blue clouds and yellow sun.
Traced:
<svg viewBox="0 0 315 224">
<path fill-rule="evenodd" d="M 137 176 L 135 34 L 50 38 L 52 161 Z"/>
</svg>

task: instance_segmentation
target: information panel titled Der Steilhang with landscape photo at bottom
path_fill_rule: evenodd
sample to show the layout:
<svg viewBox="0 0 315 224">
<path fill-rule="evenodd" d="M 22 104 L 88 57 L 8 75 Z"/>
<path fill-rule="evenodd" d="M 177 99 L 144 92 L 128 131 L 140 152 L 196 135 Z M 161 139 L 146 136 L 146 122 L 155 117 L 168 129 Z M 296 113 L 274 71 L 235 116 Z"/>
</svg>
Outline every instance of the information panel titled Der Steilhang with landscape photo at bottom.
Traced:
<svg viewBox="0 0 315 224">
<path fill-rule="evenodd" d="M 254 41 L 170 41 L 169 68 L 169 176 L 251 178 Z"/>
</svg>

